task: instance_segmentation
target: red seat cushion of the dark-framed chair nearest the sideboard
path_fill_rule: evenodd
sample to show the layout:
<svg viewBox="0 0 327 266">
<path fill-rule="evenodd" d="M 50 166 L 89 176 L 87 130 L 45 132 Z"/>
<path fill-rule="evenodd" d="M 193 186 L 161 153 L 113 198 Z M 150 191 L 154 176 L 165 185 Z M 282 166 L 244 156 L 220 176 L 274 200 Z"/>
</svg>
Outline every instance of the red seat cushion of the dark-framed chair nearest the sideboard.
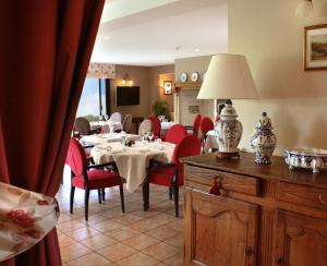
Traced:
<svg viewBox="0 0 327 266">
<path fill-rule="evenodd" d="M 160 184 L 165 186 L 172 186 L 171 181 L 173 179 L 173 167 L 154 167 L 148 176 L 148 182 L 154 184 Z M 183 171 L 179 171 L 178 185 L 184 184 Z"/>
</svg>

